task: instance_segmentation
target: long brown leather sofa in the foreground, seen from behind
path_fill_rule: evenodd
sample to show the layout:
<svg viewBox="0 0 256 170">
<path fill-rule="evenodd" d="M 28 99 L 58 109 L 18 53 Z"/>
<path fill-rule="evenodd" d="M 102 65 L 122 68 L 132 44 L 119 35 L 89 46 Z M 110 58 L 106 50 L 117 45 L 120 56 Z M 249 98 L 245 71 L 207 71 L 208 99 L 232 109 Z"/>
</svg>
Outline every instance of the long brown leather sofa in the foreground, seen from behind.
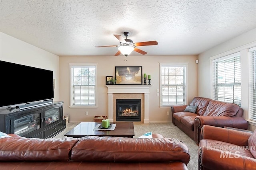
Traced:
<svg viewBox="0 0 256 170">
<path fill-rule="evenodd" d="M 178 139 L 86 136 L 0 139 L 1 170 L 188 170 L 188 147 Z M 158 137 L 158 138 L 154 138 Z"/>
</svg>

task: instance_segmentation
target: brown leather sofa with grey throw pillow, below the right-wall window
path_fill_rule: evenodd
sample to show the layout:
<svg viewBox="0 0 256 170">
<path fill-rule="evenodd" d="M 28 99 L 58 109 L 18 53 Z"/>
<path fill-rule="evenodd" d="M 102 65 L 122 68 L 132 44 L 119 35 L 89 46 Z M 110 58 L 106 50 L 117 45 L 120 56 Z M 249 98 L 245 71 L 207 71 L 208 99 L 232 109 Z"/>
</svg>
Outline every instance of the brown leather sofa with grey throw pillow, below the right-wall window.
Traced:
<svg viewBox="0 0 256 170">
<path fill-rule="evenodd" d="M 195 97 L 190 106 L 197 106 L 196 112 L 184 111 L 186 106 L 171 107 L 172 123 L 193 139 L 196 144 L 199 144 L 203 125 L 248 128 L 248 122 L 242 117 L 244 110 L 237 104 Z"/>
</svg>

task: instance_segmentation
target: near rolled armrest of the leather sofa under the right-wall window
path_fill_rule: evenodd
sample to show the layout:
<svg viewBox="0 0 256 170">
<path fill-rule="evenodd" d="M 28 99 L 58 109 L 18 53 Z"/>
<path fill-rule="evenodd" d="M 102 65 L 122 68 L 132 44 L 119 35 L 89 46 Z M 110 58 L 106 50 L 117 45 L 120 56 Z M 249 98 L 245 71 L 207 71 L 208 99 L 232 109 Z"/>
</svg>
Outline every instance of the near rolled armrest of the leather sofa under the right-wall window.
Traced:
<svg viewBox="0 0 256 170">
<path fill-rule="evenodd" d="M 226 117 L 226 116 L 196 116 L 194 120 L 194 141 L 199 144 L 201 128 L 204 125 L 216 127 L 235 127 L 239 129 L 247 129 L 248 122 L 242 117 Z"/>
</svg>

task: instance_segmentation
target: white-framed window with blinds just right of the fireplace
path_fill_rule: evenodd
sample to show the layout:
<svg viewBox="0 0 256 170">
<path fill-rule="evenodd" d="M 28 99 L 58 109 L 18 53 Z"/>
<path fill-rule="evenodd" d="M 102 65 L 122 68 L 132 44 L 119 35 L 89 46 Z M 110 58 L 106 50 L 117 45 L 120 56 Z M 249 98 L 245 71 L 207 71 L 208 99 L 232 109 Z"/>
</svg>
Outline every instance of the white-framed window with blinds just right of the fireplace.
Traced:
<svg viewBox="0 0 256 170">
<path fill-rule="evenodd" d="M 184 63 L 160 63 L 160 105 L 186 104 L 186 67 Z"/>
</svg>

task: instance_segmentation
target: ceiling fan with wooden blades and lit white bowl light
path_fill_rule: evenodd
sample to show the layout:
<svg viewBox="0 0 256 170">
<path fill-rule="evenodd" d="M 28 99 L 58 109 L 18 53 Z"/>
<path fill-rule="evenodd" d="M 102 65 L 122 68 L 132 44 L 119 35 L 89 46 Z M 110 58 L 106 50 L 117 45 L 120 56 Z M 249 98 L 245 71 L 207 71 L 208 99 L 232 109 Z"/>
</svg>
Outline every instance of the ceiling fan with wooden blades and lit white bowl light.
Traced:
<svg viewBox="0 0 256 170">
<path fill-rule="evenodd" d="M 141 49 L 138 49 L 136 47 L 138 46 L 146 46 L 146 45 L 157 45 L 157 41 L 145 41 L 145 42 L 139 42 L 139 43 L 133 43 L 131 39 L 127 39 L 129 32 L 124 32 L 125 39 L 121 35 L 114 36 L 120 41 L 120 45 L 105 45 L 105 46 L 95 46 L 95 47 L 118 47 L 118 52 L 115 54 L 120 55 L 121 53 L 127 57 L 132 53 L 132 51 L 136 51 L 137 53 L 140 53 L 142 55 L 147 54 L 147 52 L 142 51 Z"/>
</svg>

